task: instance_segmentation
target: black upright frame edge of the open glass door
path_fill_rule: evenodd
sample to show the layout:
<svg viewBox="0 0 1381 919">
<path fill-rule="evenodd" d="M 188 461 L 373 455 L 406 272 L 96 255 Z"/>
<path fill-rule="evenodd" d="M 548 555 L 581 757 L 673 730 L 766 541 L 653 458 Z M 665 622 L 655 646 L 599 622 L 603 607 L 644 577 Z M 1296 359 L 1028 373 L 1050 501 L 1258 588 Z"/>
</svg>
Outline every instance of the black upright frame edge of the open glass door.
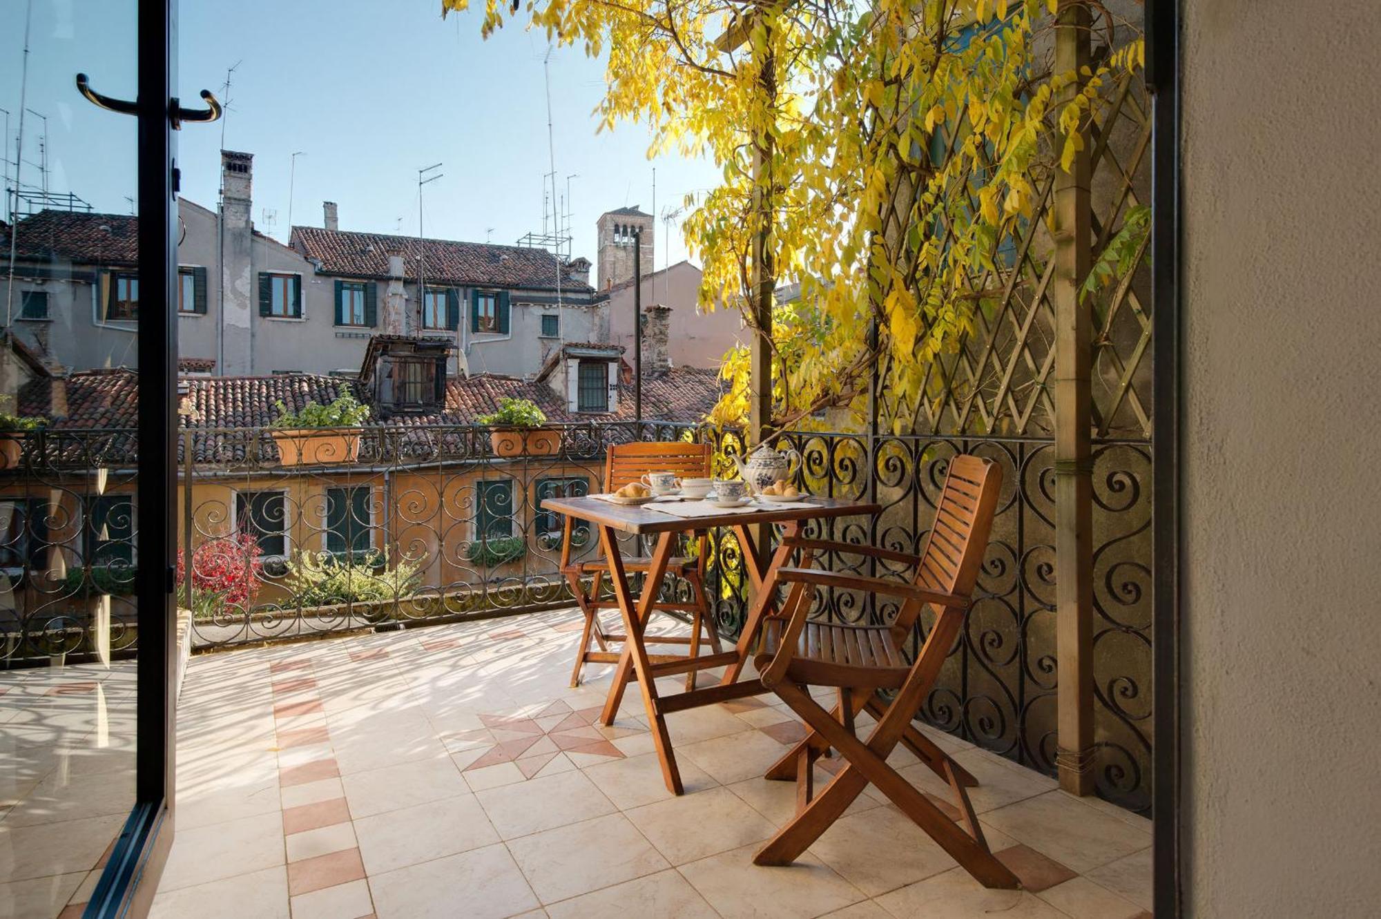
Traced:
<svg viewBox="0 0 1381 919">
<path fill-rule="evenodd" d="M 135 802 L 83 913 L 142 915 L 173 846 L 177 672 L 177 0 L 139 0 L 139 422 L 135 486 L 139 552 L 135 609 Z"/>
</svg>

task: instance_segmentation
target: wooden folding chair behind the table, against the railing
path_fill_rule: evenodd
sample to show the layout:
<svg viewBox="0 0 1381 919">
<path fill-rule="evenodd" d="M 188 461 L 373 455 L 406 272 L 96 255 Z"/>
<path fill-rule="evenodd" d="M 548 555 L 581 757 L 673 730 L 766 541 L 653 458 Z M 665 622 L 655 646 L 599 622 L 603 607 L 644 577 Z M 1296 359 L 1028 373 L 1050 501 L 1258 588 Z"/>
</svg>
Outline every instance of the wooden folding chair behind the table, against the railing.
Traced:
<svg viewBox="0 0 1381 919">
<path fill-rule="evenodd" d="M 678 477 L 708 477 L 710 476 L 710 444 L 707 443 L 682 443 L 682 442 L 659 442 L 659 443 L 620 443 L 609 447 L 609 454 L 605 460 L 605 476 L 603 488 L 605 491 L 616 491 L 630 482 L 639 482 L 642 476 L 649 472 L 674 472 Z M 599 588 L 603 577 L 609 573 L 609 562 L 603 557 L 603 548 L 601 546 L 599 555 L 591 562 L 572 562 L 570 560 L 570 535 L 572 535 L 573 520 L 566 517 L 565 533 L 561 545 L 561 573 L 565 575 L 566 582 L 570 584 L 572 593 L 576 595 L 576 603 L 580 604 L 580 611 L 584 613 L 586 625 L 580 632 L 580 653 L 576 655 L 576 669 L 570 675 L 570 684 L 580 686 L 580 673 L 586 664 L 617 664 L 619 651 L 610 650 L 610 644 L 615 642 L 624 642 L 624 635 L 615 635 L 605 632 L 603 626 L 599 624 L 599 610 L 616 610 L 619 603 L 613 599 L 599 599 Z M 688 535 L 695 535 L 696 540 L 696 553 L 695 557 L 686 556 L 673 556 L 667 564 L 667 574 L 684 578 L 692 591 L 690 603 L 656 603 L 653 610 L 666 613 L 686 613 L 690 615 L 690 635 L 649 635 L 644 640 L 648 643 L 661 643 L 661 644 L 689 644 L 689 655 L 699 657 L 700 654 L 700 631 L 704 629 L 710 639 L 710 647 L 715 654 L 720 653 L 720 635 L 714 628 L 714 615 L 710 613 L 710 603 L 704 592 L 704 559 L 706 559 L 706 534 L 704 531 L 686 530 Z M 623 559 L 623 567 L 628 573 L 642 573 L 648 571 L 648 559 L 631 557 L 627 555 L 620 556 Z M 590 589 L 586 591 L 584 578 L 590 578 Z M 595 644 L 599 646 L 598 651 L 590 649 L 590 640 L 594 639 Z M 671 654 L 653 654 L 650 655 L 652 662 L 664 662 L 670 660 L 677 660 L 679 655 Z M 696 672 L 690 671 L 686 673 L 686 689 L 695 689 Z"/>
</svg>

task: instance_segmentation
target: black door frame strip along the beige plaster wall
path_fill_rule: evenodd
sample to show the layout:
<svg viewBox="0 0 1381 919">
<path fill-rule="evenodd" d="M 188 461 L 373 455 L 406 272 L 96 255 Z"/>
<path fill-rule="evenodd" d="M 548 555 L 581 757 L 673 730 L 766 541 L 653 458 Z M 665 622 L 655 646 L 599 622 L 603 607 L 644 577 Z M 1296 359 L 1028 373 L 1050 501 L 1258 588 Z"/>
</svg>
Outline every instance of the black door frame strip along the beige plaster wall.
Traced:
<svg viewBox="0 0 1381 919">
<path fill-rule="evenodd" d="M 1146 1 L 1146 87 L 1152 94 L 1150 276 L 1155 404 L 1152 437 L 1153 909 L 1181 915 L 1179 633 L 1181 633 L 1181 379 L 1179 322 L 1179 0 Z"/>
</svg>

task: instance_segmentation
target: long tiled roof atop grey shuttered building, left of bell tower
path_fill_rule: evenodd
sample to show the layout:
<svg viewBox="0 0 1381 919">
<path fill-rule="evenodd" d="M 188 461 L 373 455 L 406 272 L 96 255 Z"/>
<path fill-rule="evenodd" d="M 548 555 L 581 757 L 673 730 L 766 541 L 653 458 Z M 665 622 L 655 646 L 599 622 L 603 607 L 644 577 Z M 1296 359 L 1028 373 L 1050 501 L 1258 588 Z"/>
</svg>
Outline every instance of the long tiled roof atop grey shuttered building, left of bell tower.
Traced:
<svg viewBox="0 0 1381 919">
<path fill-rule="evenodd" d="M 555 255 L 544 248 L 458 243 L 446 239 L 417 240 L 412 236 L 355 233 L 319 226 L 294 226 L 293 247 L 322 262 L 320 273 L 348 277 L 388 277 L 388 251 L 402 250 L 407 273 L 416 275 L 418 254 L 425 255 L 428 281 L 493 287 L 557 288 Z M 576 280 L 570 266 L 562 268 L 565 291 L 590 291 Z"/>
</svg>

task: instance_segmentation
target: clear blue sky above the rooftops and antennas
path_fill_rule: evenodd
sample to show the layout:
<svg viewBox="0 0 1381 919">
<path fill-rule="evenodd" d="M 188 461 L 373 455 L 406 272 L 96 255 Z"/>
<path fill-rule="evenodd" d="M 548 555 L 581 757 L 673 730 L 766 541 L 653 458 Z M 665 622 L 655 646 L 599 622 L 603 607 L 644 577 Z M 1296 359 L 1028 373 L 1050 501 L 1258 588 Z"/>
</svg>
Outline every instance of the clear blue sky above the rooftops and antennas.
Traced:
<svg viewBox="0 0 1381 919">
<path fill-rule="evenodd" d="M 482 6 L 482 4 L 481 4 Z M 0 3 L 0 108 L 19 110 L 22 0 Z M 134 195 L 133 119 L 101 112 L 73 88 L 86 70 L 108 95 L 134 94 L 134 4 L 33 0 L 28 103 L 48 116 L 50 188 L 98 210 L 127 213 Z M 548 171 L 541 33 L 507 28 L 487 41 L 479 12 L 441 19 L 439 0 L 182 0 L 180 84 L 221 94 L 232 77 L 225 146 L 254 153 L 254 219 L 278 211 L 286 239 L 289 167 L 297 157 L 293 222 L 320 225 L 322 201 L 340 204 L 342 229 L 417 232 L 417 168 L 445 163 L 425 188 L 428 236 L 511 243 L 541 229 Z M 623 124 L 595 134 L 602 62 L 579 50 L 551 55 L 558 192 L 570 182 L 573 254 L 595 258 L 595 218 L 626 204 L 679 207 L 718 181 L 707 161 L 646 157 L 648 132 Z M 37 160 L 39 121 L 25 127 L 25 159 Z M 180 135 L 184 196 L 214 207 L 221 126 Z M 25 179 L 37 171 L 25 164 Z M 402 221 L 399 222 L 399 218 Z M 657 224 L 657 265 L 667 239 Z M 492 232 L 490 232 L 492 230 Z M 673 226 L 670 258 L 685 257 Z"/>
</svg>

